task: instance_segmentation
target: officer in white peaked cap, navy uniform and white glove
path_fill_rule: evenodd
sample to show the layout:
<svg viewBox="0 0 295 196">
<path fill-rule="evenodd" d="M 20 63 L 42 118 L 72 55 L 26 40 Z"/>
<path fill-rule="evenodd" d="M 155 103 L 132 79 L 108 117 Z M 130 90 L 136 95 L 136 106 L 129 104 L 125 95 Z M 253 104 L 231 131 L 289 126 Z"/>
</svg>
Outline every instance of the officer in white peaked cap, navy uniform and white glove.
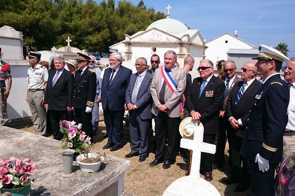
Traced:
<svg viewBox="0 0 295 196">
<path fill-rule="evenodd" d="M 280 77 L 289 58 L 260 45 L 257 74 L 264 83 L 255 95 L 240 153 L 249 159 L 253 196 L 274 196 L 274 171 L 282 161 L 283 135 L 288 123 L 289 87 Z"/>
</svg>

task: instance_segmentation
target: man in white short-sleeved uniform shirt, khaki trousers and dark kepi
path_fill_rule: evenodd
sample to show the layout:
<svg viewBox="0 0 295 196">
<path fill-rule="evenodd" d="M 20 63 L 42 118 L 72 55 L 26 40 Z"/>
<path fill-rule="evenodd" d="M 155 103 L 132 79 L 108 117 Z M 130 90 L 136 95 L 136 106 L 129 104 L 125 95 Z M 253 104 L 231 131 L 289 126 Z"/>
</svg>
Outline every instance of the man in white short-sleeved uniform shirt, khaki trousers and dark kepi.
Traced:
<svg viewBox="0 0 295 196">
<path fill-rule="evenodd" d="M 41 54 L 29 52 L 28 93 L 27 102 L 32 113 L 35 134 L 46 135 L 46 109 L 44 107 L 44 92 L 48 80 L 48 70 L 39 63 Z"/>
</svg>

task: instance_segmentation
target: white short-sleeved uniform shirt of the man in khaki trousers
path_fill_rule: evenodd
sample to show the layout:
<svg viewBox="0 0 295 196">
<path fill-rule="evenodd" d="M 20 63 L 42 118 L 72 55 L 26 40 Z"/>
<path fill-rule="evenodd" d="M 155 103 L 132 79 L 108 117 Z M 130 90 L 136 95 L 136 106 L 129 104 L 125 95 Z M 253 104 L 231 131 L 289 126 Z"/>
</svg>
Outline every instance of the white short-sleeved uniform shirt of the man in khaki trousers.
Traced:
<svg viewBox="0 0 295 196">
<path fill-rule="evenodd" d="M 48 80 L 48 70 L 46 67 L 37 64 L 35 69 L 31 66 L 28 70 L 28 89 L 44 89 L 44 83 Z"/>
</svg>

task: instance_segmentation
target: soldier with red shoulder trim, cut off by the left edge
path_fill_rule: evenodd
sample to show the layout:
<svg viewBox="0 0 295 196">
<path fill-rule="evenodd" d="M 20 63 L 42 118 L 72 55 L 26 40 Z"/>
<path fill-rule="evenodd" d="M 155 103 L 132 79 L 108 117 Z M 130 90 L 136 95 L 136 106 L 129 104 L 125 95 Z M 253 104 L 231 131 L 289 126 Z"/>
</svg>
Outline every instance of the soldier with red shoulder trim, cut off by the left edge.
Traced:
<svg viewBox="0 0 295 196">
<path fill-rule="evenodd" d="M 1 56 L 1 48 L 0 48 Z M 7 88 L 5 80 L 7 79 Z M 8 121 L 7 116 L 7 98 L 11 88 L 10 66 L 7 62 L 0 60 L 0 125 L 4 125 Z"/>
</svg>

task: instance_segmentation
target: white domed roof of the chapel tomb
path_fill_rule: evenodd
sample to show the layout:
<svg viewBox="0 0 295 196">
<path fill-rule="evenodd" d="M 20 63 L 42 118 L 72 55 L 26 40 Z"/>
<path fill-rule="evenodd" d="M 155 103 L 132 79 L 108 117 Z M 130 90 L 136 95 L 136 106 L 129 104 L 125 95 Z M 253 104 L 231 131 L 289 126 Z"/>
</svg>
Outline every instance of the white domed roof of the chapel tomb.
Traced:
<svg viewBox="0 0 295 196">
<path fill-rule="evenodd" d="M 153 22 L 146 29 L 157 28 L 167 33 L 181 34 L 188 30 L 186 25 L 175 19 L 166 18 Z"/>
</svg>

